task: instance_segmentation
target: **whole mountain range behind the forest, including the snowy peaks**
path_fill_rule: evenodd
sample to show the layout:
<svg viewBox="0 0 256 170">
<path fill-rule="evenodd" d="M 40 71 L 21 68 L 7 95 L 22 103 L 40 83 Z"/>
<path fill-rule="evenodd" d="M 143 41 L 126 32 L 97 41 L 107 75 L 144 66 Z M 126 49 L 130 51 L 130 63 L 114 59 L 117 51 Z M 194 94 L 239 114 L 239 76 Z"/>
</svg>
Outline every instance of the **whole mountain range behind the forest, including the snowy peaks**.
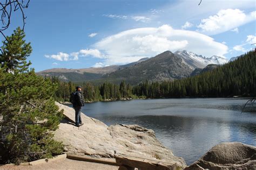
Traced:
<svg viewBox="0 0 256 170">
<path fill-rule="evenodd" d="M 228 60 L 220 56 L 206 58 L 187 51 L 163 52 L 152 58 L 143 58 L 126 65 L 112 65 L 101 68 L 66 69 L 53 68 L 38 72 L 42 76 L 57 76 L 63 81 L 100 83 L 104 81 L 120 82 L 125 80 L 137 84 L 145 80 L 162 81 L 181 79 L 199 74 L 207 65 L 223 65 Z M 213 69 L 215 67 L 208 67 Z"/>
</svg>

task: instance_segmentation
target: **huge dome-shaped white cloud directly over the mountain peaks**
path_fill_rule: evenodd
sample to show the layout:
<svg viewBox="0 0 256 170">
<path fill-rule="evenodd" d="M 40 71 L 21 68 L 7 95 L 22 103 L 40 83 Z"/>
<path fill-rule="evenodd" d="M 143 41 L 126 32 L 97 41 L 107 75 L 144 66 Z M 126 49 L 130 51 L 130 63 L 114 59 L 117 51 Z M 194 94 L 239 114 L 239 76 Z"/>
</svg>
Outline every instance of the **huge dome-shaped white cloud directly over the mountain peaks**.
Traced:
<svg viewBox="0 0 256 170">
<path fill-rule="evenodd" d="M 123 31 L 97 42 L 94 47 L 104 52 L 107 65 L 123 64 L 170 50 L 186 49 L 205 56 L 224 56 L 227 46 L 204 34 L 174 30 L 169 25 Z"/>
</svg>

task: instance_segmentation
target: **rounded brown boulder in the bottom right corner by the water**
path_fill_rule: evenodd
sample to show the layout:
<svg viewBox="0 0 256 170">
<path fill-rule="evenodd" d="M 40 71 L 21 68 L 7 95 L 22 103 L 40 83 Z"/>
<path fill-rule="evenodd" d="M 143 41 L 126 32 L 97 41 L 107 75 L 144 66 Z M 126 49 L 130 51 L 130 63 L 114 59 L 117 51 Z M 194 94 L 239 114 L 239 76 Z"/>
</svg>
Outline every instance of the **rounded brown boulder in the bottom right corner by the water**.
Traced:
<svg viewBox="0 0 256 170">
<path fill-rule="evenodd" d="M 221 143 L 185 169 L 256 169 L 256 147 L 239 142 Z"/>
</svg>

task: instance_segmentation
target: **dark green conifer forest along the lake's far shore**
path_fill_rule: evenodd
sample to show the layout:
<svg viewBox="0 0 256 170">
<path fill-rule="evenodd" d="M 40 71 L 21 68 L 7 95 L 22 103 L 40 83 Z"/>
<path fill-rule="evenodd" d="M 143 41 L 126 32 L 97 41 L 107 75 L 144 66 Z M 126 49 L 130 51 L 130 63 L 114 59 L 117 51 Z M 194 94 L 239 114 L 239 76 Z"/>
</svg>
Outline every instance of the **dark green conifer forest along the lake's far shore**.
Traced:
<svg viewBox="0 0 256 170">
<path fill-rule="evenodd" d="M 104 82 L 96 85 L 79 83 L 84 89 L 86 101 L 113 101 L 131 98 L 172 98 L 172 97 L 252 97 L 256 94 L 256 49 L 239 56 L 211 71 L 174 81 L 141 82 L 136 85 Z M 69 101 L 71 92 L 78 85 L 62 82 L 51 77 L 57 84 L 57 101 Z"/>
</svg>

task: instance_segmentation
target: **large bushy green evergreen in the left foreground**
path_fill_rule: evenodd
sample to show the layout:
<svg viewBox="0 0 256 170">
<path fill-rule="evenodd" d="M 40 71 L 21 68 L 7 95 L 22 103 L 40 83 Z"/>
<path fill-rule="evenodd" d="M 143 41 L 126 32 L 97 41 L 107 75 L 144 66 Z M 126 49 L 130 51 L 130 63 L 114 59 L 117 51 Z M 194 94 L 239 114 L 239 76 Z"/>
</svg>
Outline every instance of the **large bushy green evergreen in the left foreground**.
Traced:
<svg viewBox="0 0 256 170">
<path fill-rule="evenodd" d="M 30 44 L 18 28 L 9 45 L 2 48 L 0 68 L 0 163 L 32 161 L 52 157 L 63 151 L 62 143 L 52 139 L 62 111 L 53 96 L 57 86 L 50 79 L 28 70 L 26 56 Z M 6 61 L 3 59 L 7 59 Z"/>
</svg>

